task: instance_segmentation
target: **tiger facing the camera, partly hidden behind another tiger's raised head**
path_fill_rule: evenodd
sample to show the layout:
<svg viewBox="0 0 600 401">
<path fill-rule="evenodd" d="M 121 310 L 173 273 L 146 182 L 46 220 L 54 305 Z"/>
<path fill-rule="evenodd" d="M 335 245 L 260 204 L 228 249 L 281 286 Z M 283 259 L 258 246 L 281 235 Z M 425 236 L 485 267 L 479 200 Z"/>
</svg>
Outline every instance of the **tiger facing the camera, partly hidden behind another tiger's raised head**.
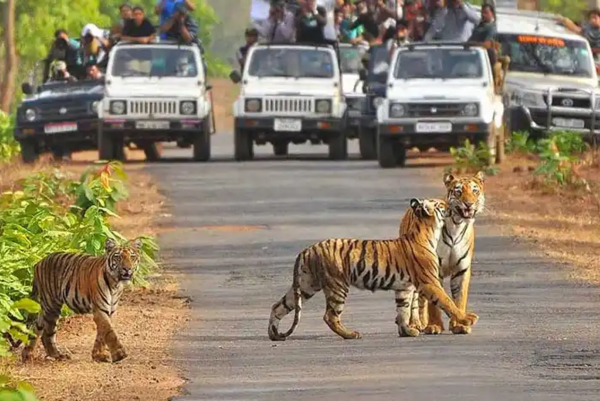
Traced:
<svg viewBox="0 0 600 401">
<path fill-rule="evenodd" d="M 469 284 L 471 282 L 471 263 L 475 250 L 475 217 L 485 207 L 485 176 L 478 172 L 473 176 L 455 177 L 444 174 L 448 215 L 442 230 L 442 239 L 437 246 L 440 261 L 440 283 L 450 277 L 450 292 L 456 306 L 467 310 Z M 400 234 L 404 232 L 400 223 Z M 411 315 L 411 328 L 421 329 L 425 334 L 440 334 L 444 331 L 441 311 L 428 304 L 427 299 L 419 297 L 419 313 L 414 305 Z M 420 316 L 419 316 L 420 315 Z M 450 331 L 454 334 L 469 334 L 471 326 L 450 319 Z"/>
</svg>

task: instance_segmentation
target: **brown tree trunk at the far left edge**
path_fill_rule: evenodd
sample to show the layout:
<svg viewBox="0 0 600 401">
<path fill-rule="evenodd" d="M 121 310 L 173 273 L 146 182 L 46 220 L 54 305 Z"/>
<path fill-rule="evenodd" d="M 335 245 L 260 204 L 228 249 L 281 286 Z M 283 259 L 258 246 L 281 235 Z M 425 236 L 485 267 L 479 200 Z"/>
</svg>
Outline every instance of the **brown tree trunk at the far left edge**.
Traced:
<svg viewBox="0 0 600 401">
<path fill-rule="evenodd" d="M 4 5 L 4 50 L 5 70 L 3 73 L 2 86 L 0 86 L 0 110 L 10 112 L 14 92 L 15 79 L 17 77 L 17 49 L 15 46 L 15 8 L 17 0 L 8 0 Z"/>
</svg>

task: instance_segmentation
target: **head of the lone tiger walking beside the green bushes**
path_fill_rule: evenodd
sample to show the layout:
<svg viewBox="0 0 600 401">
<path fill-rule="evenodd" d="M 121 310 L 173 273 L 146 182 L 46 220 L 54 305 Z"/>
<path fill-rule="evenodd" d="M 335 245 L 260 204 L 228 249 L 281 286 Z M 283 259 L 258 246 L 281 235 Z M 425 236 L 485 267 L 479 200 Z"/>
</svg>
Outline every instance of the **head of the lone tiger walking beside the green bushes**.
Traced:
<svg viewBox="0 0 600 401">
<path fill-rule="evenodd" d="M 117 244 L 108 238 L 104 244 L 104 256 L 108 274 L 116 281 L 130 281 L 140 263 L 141 238 Z"/>
</svg>

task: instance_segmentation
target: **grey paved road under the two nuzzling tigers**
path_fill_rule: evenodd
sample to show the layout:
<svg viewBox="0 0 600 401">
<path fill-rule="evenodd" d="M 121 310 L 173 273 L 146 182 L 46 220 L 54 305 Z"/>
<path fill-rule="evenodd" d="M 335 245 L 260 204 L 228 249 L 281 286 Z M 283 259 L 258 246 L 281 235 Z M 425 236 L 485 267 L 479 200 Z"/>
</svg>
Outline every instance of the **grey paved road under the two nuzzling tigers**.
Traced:
<svg viewBox="0 0 600 401">
<path fill-rule="evenodd" d="M 175 343 L 190 379 L 178 399 L 600 399 L 598 289 L 566 281 L 559 267 L 500 237 L 484 218 L 473 334 L 399 338 L 393 294 L 354 290 L 344 321 L 362 340 L 333 334 L 316 296 L 288 341 L 269 341 L 270 307 L 290 285 L 298 251 L 327 237 L 391 237 L 408 199 L 440 195 L 441 183 L 422 168 L 277 160 L 270 147 L 260 148 L 262 161 L 235 163 L 232 137 L 213 138 L 217 162 L 148 168 L 172 201 L 177 228 L 160 242 L 193 298 L 193 319 Z M 326 148 L 293 152 L 319 156 Z"/>
</svg>

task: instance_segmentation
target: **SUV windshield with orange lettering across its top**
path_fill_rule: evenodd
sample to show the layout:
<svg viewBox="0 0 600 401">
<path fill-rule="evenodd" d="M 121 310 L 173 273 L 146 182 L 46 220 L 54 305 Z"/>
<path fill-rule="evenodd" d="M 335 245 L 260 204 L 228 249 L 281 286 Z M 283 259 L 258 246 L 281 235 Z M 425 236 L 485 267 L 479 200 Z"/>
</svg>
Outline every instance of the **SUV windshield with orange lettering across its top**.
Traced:
<svg viewBox="0 0 600 401">
<path fill-rule="evenodd" d="M 498 35 L 509 71 L 593 77 L 593 59 L 584 40 L 538 35 Z"/>
</svg>

